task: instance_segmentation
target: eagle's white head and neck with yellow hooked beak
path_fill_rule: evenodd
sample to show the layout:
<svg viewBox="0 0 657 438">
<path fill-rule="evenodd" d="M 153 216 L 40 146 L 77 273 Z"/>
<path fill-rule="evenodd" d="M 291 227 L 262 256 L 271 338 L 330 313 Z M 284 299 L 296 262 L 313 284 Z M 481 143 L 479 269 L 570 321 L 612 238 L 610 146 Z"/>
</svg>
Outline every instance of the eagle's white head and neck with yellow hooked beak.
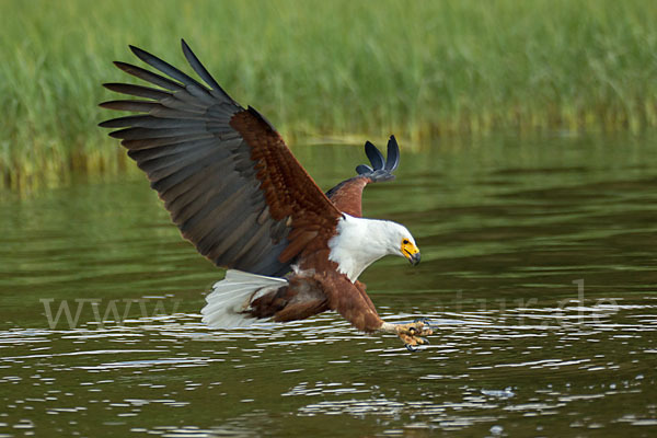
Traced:
<svg viewBox="0 0 657 438">
<path fill-rule="evenodd" d="M 372 263 L 385 255 L 399 255 L 419 263 L 419 250 L 406 227 L 379 219 L 356 218 L 343 214 L 337 233 L 328 241 L 328 260 L 351 281 Z"/>
</svg>

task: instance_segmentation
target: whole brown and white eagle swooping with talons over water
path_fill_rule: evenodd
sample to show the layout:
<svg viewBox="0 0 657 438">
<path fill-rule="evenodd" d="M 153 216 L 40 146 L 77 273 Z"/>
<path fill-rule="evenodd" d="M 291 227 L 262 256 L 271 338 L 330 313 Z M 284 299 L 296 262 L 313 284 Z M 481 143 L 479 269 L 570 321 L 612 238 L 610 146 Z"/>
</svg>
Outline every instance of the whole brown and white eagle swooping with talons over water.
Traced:
<svg viewBox="0 0 657 438">
<path fill-rule="evenodd" d="M 104 87 L 139 100 L 104 108 L 137 112 L 100 124 L 119 128 L 128 155 L 146 172 L 183 238 L 217 266 L 228 268 L 206 297 L 203 321 L 214 327 L 257 320 L 295 321 L 334 310 L 362 332 L 396 334 L 411 350 L 427 344 L 426 320 L 381 320 L 358 276 L 385 255 L 419 262 L 408 230 L 364 218 L 369 183 L 390 181 L 400 160 L 394 137 L 388 158 L 370 142 L 368 165 L 326 194 L 276 129 L 253 107 L 242 107 L 215 81 L 187 44 L 183 54 L 205 84 L 134 46 L 159 74 L 126 62 L 125 72 L 157 88 Z"/>
</svg>

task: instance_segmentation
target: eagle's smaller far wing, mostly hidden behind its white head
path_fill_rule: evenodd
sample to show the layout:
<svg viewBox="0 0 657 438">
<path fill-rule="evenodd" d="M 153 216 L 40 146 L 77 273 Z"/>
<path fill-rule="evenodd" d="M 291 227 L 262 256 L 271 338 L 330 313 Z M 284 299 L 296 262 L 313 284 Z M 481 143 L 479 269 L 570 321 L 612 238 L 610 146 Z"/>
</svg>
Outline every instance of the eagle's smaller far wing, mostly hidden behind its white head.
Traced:
<svg viewBox="0 0 657 438">
<path fill-rule="evenodd" d="M 394 180 L 392 172 L 400 165 L 400 147 L 394 136 L 390 136 L 390 140 L 388 140 L 387 160 L 381 151 L 369 141 L 365 143 L 365 153 L 372 166 L 358 165 L 356 168 L 358 176 L 345 180 L 326 192 L 326 196 L 338 210 L 355 217 L 362 216 L 361 198 L 365 186 L 369 183 Z"/>
</svg>

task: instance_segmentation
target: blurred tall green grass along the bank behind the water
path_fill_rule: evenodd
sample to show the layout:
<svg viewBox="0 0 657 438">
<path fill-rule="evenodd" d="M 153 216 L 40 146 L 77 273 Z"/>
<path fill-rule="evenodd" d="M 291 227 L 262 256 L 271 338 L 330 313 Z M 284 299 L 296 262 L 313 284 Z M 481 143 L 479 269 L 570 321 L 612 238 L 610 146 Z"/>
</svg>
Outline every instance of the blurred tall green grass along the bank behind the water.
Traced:
<svg viewBox="0 0 657 438">
<path fill-rule="evenodd" d="M 128 44 L 183 67 L 184 37 L 288 139 L 418 143 L 657 126 L 655 23 L 649 1 L 3 0 L 2 185 L 126 165 L 96 124 Z"/>
</svg>

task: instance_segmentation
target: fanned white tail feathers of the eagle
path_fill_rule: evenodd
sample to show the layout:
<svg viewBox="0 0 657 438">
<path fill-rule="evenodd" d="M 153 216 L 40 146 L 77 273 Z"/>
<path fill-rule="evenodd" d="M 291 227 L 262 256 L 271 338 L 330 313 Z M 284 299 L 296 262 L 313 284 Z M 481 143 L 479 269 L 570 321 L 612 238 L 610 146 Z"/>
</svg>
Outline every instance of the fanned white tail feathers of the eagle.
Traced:
<svg viewBox="0 0 657 438">
<path fill-rule="evenodd" d="M 206 297 L 207 304 L 200 310 L 203 322 L 211 327 L 243 327 L 257 321 L 245 315 L 253 300 L 284 286 L 284 278 L 266 277 L 230 269 L 226 278 L 212 286 L 212 291 Z"/>
</svg>

